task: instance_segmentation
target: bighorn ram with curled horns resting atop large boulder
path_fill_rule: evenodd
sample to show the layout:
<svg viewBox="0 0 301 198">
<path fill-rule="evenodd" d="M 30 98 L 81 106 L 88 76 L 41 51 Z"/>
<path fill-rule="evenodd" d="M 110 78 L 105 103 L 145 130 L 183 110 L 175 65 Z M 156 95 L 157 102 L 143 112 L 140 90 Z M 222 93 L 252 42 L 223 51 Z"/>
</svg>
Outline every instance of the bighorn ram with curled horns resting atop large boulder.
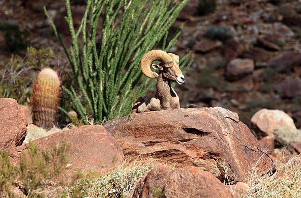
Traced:
<svg viewBox="0 0 301 198">
<path fill-rule="evenodd" d="M 159 60 L 159 65 L 151 63 Z M 141 59 L 141 70 L 149 78 L 157 79 L 156 94 L 145 100 L 139 97 L 132 108 L 132 113 L 141 113 L 148 111 L 179 109 L 180 101 L 177 93 L 171 87 L 171 82 L 182 85 L 185 81 L 179 68 L 179 56 L 167 54 L 162 50 L 151 50 Z M 152 72 L 152 68 L 159 70 L 159 74 Z"/>
</svg>

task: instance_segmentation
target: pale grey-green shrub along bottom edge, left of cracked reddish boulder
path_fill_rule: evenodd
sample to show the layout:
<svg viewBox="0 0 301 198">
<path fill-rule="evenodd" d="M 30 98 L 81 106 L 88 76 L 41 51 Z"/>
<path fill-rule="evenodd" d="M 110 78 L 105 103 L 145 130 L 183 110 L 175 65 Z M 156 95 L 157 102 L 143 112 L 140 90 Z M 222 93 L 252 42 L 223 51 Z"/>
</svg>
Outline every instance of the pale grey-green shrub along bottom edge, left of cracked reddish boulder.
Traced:
<svg viewBox="0 0 301 198">
<path fill-rule="evenodd" d="M 102 177 L 85 178 L 65 188 L 66 197 L 77 195 L 102 198 L 125 198 L 136 181 L 154 167 L 132 164 L 108 172 Z"/>
</svg>

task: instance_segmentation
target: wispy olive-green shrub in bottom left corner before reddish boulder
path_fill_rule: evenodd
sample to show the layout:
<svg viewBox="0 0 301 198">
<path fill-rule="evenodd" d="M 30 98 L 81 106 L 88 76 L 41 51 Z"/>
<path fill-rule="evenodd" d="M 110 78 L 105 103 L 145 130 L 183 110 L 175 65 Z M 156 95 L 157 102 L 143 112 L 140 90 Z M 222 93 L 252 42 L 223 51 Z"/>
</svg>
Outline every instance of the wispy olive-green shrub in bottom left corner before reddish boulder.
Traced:
<svg viewBox="0 0 301 198">
<path fill-rule="evenodd" d="M 58 144 L 40 151 L 36 144 L 27 145 L 28 153 L 23 151 L 20 156 L 20 165 L 10 163 L 9 153 L 0 150 L 0 195 L 10 196 L 8 186 L 21 186 L 22 191 L 29 198 L 43 197 L 39 192 L 45 185 L 60 184 L 62 171 L 66 169 L 68 158 L 66 151 L 70 146 L 62 139 Z M 21 181 L 16 183 L 15 179 Z M 52 182 L 50 182 L 52 181 Z M 11 195 L 12 196 L 12 195 Z"/>
</svg>

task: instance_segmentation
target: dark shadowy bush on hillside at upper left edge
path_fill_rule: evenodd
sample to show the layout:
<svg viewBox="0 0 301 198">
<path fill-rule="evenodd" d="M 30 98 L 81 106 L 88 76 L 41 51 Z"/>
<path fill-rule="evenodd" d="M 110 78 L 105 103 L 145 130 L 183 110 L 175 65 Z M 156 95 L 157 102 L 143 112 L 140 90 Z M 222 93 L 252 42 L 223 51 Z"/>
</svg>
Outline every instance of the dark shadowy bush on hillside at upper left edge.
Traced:
<svg viewBox="0 0 301 198">
<path fill-rule="evenodd" d="M 4 32 L 5 48 L 8 52 L 18 53 L 26 49 L 28 32 L 21 31 L 17 21 L 0 23 L 0 31 Z"/>
</svg>

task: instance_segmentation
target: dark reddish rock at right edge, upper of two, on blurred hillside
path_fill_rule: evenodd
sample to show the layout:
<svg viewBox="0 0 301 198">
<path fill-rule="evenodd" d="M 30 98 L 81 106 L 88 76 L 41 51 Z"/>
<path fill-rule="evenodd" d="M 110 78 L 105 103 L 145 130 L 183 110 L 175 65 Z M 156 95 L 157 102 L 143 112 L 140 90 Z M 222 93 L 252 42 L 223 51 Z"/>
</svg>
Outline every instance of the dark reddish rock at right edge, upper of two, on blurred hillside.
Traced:
<svg viewBox="0 0 301 198">
<path fill-rule="evenodd" d="M 286 52 L 271 59 L 268 66 L 277 70 L 278 72 L 289 72 L 295 66 L 301 65 L 301 53 L 300 52 Z"/>
</svg>

